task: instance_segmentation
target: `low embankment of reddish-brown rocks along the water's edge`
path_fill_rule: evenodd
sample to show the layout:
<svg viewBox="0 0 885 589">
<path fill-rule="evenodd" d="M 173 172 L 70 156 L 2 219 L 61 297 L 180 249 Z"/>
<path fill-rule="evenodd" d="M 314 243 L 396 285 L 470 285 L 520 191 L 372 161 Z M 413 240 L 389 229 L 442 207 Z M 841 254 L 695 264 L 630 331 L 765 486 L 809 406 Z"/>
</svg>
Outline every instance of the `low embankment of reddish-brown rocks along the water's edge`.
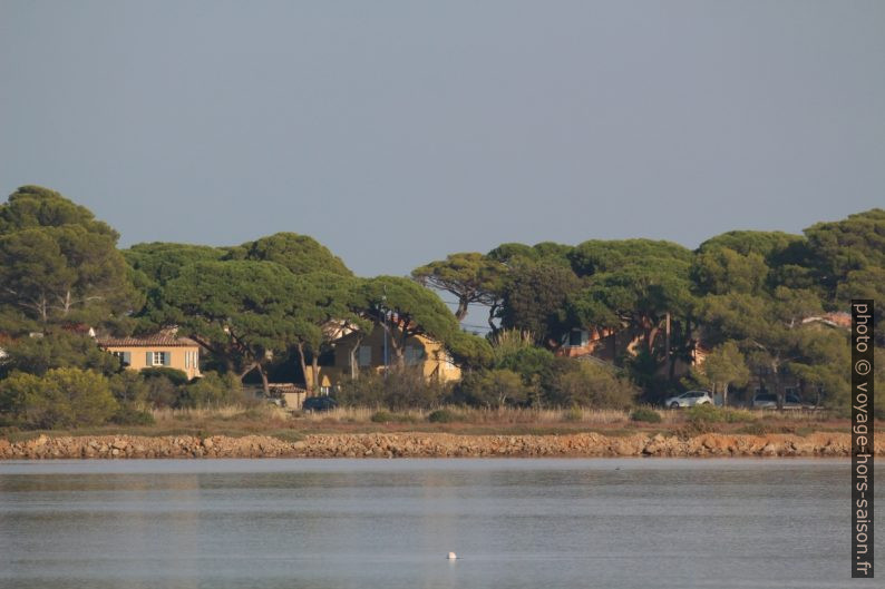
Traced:
<svg viewBox="0 0 885 589">
<path fill-rule="evenodd" d="M 490 458 L 490 457 L 848 457 L 847 433 L 732 435 L 709 433 L 682 439 L 634 434 L 454 435 L 366 433 L 307 435 L 290 442 L 249 435 L 47 436 L 0 440 L 0 460 L 157 458 Z M 885 441 L 876 443 L 885 455 Z"/>
</svg>

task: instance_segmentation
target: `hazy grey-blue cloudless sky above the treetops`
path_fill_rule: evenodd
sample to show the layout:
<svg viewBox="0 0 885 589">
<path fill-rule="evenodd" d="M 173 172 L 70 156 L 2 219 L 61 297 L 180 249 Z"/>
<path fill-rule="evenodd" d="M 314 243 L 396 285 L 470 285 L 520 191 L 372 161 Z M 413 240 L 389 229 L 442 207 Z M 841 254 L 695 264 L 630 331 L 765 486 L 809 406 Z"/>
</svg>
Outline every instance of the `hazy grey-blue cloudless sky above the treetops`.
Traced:
<svg viewBox="0 0 885 589">
<path fill-rule="evenodd" d="M 22 184 L 123 245 L 289 230 L 362 275 L 799 232 L 885 206 L 885 2 L 0 0 Z"/>
</svg>

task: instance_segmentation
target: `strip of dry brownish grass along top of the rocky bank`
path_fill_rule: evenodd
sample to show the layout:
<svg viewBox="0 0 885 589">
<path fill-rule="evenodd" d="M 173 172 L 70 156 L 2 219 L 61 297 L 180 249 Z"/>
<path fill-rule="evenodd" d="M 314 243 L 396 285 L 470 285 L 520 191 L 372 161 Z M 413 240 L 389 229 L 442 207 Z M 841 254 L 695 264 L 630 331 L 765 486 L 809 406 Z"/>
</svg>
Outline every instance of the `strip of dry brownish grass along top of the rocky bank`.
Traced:
<svg viewBox="0 0 885 589">
<path fill-rule="evenodd" d="M 275 405 L 232 405 L 205 409 L 155 409 L 152 425 L 106 425 L 71 431 L 0 431 L 0 438 L 27 439 L 52 435 L 273 435 L 298 440 L 314 433 L 445 432 L 454 434 L 568 434 L 596 431 L 606 435 L 633 433 L 692 434 L 798 433 L 848 431 L 848 420 L 824 411 L 728 410 L 728 419 L 699 424 L 687 410 L 652 409 L 660 422 L 631 420 L 631 412 L 600 409 L 500 409 L 441 408 L 446 419 L 429 420 L 432 411 L 379 411 L 371 408 L 339 408 L 320 413 L 290 412 Z M 651 408 L 648 408 L 651 409 Z M 878 429 L 878 428 L 877 428 Z"/>
</svg>

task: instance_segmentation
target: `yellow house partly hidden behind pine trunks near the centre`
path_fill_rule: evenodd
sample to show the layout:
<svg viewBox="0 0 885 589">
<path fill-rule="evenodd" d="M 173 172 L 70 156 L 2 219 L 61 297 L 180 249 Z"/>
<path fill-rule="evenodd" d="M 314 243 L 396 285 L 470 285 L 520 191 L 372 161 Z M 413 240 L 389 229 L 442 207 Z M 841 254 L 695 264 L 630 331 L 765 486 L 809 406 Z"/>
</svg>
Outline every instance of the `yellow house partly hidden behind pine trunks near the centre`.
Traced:
<svg viewBox="0 0 885 589">
<path fill-rule="evenodd" d="M 420 366 L 428 380 L 437 379 L 440 382 L 450 382 L 461 377 L 460 369 L 455 365 L 442 344 L 424 335 L 407 337 L 402 355 L 407 366 Z M 334 341 L 332 353 L 325 360 L 327 362 L 320 362 L 319 392 L 327 394 L 333 392 L 338 384 L 357 373 L 382 370 L 386 364 L 383 327 L 376 326 L 362 340 L 356 333 L 342 335 Z M 387 365 L 393 366 L 396 363 L 396 355 L 388 340 Z M 313 373 L 310 366 L 308 366 L 304 380 L 308 389 L 314 389 Z"/>
</svg>

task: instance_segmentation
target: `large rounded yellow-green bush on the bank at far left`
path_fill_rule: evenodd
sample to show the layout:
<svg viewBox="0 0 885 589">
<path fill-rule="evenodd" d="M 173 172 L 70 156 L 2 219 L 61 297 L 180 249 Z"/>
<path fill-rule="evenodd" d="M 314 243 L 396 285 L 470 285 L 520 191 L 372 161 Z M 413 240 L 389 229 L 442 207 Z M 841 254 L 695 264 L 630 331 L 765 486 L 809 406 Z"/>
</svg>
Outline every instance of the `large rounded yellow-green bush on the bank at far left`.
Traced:
<svg viewBox="0 0 885 589">
<path fill-rule="evenodd" d="M 27 428 L 100 425 L 118 409 L 108 380 L 80 369 L 52 369 L 46 375 L 13 373 L 0 381 L 0 411 Z"/>
</svg>

